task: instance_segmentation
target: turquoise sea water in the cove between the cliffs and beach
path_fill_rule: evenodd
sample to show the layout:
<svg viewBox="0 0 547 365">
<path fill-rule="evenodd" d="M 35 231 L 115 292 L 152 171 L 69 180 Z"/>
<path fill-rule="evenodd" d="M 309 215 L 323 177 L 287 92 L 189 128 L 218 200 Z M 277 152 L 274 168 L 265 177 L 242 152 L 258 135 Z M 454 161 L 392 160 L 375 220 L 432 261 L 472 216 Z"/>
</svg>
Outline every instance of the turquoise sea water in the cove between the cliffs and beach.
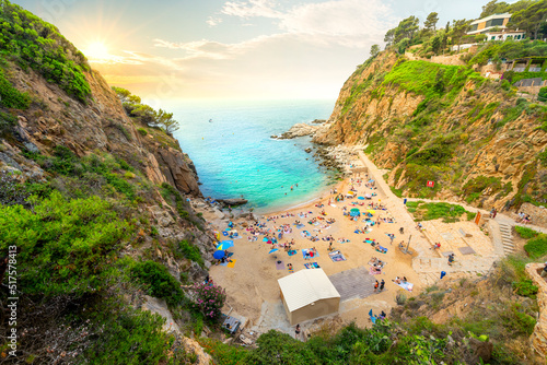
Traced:
<svg viewBox="0 0 547 365">
<path fill-rule="evenodd" d="M 334 103 L 193 103 L 170 110 L 181 123 L 174 137 L 194 161 L 203 196 L 243 196 L 247 208 L 268 212 L 310 201 L 331 184 L 331 176 L 304 151 L 312 145 L 309 137 L 279 141 L 270 136 L 298 122 L 328 119 Z"/>
</svg>

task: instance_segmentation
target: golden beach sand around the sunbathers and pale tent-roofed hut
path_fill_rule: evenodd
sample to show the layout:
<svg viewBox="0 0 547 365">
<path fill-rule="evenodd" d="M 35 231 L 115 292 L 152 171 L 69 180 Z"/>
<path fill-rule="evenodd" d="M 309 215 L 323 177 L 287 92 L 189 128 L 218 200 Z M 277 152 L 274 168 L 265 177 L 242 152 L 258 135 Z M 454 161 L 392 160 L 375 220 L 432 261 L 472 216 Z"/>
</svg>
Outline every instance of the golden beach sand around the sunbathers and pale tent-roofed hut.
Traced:
<svg viewBox="0 0 547 365">
<path fill-rule="evenodd" d="M 419 293 L 421 289 L 421 284 L 418 278 L 418 274 L 411 268 L 411 256 L 403 254 L 397 245 L 401 240 L 405 244 L 408 240 L 409 232 L 415 231 L 414 222 L 408 221 L 408 216 L 405 219 L 398 219 L 396 214 L 392 215 L 389 211 L 377 210 L 376 214 L 374 214 L 373 220 L 375 221 L 380 217 L 393 216 L 396 223 L 381 223 L 380 226 L 376 224 L 372 227 L 371 233 L 366 234 L 356 234 L 353 233 L 356 227 L 363 227 L 364 223 L 361 222 L 361 219 L 358 223 L 350 221 L 348 216 L 344 215 L 342 208 L 346 205 L 347 210 L 353 208 L 350 205 L 351 202 L 363 202 L 364 205 L 358 207 L 361 212 L 364 212 L 368 209 L 368 204 L 370 202 L 379 203 L 385 202 L 385 195 L 382 192 L 382 189 L 371 189 L 364 186 L 365 174 L 360 174 L 360 178 L 363 180 L 361 186 L 354 184 L 353 186 L 357 188 L 357 196 L 364 196 L 365 193 L 376 192 L 377 196 L 373 197 L 371 200 L 358 200 L 353 198 L 351 200 L 345 200 L 340 202 L 335 202 L 335 196 L 323 196 L 321 202 L 325 204 L 324 208 L 317 208 L 314 202 L 312 204 L 305 207 L 298 207 L 284 212 L 279 213 L 270 213 L 264 216 L 260 216 L 260 223 L 265 223 L 266 219 L 269 216 L 281 215 L 287 213 L 299 214 L 300 212 L 313 212 L 309 214 L 309 219 L 299 217 L 299 216 L 289 216 L 289 217 L 279 217 L 275 221 L 268 221 L 267 227 L 274 228 L 274 226 L 280 226 L 281 224 L 291 224 L 292 234 L 283 235 L 283 238 L 280 239 L 280 243 L 284 243 L 291 239 L 295 240 L 295 245 L 293 249 L 298 250 L 298 254 L 289 257 L 284 249 L 280 248 L 279 251 L 275 254 L 268 254 L 272 248 L 272 245 L 269 245 L 263 242 L 264 235 L 258 236 L 258 239 L 255 242 L 249 242 L 247 239 L 247 235 L 245 234 L 245 228 L 241 225 L 244 220 L 236 221 L 237 232 L 242 235 L 242 238 L 235 239 L 235 246 L 230 250 L 234 252 L 233 257 L 237 261 L 235 262 L 234 268 L 228 268 L 223 266 L 212 266 L 210 269 L 210 276 L 214 280 L 216 283 L 220 284 L 225 289 L 228 299 L 226 306 L 224 308 L 224 313 L 230 311 L 234 316 L 238 316 L 240 318 L 245 318 L 247 320 L 246 328 L 253 329 L 254 332 L 264 333 L 269 329 L 277 329 L 286 333 L 292 334 L 294 329 L 290 326 L 287 315 L 284 314 L 284 309 L 280 298 L 280 290 L 277 283 L 277 280 L 289 275 L 289 270 L 277 270 L 276 262 L 278 260 L 283 261 L 284 267 L 287 268 L 288 263 L 292 263 L 294 271 L 305 270 L 304 263 L 306 262 L 317 262 L 321 268 L 325 271 L 327 275 L 333 275 L 339 273 L 341 271 L 356 269 L 356 268 L 365 268 L 370 269 L 368 262 L 371 257 L 377 257 L 382 261 L 387 262 L 387 264 L 383 269 L 383 273 L 379 275 L 368 275 L 373 276 L 375 280 L 384 279 L 385 281 L 385 290 L 382 293 L 374 294 L 357 299 L 348 299 L 341 302 L 340 310 L 337 315 L 331 315 L 326 318 L 327 321 L 334 320 L 342 323 L 349 323 L 350 321 L 356 321 L 358 326 L 365 327 L 371 326 L 369 319 L 369 310 L 373 309 L 374 314 L 380 313 L 380 310 L 384 310 L 385 313 L 389 313 L 391 307 L 396 305 L 395 297 L 397 293 L 401 292 L 407 297 L 416 295 Z M 381 176 L 372 176 L 369 175 L 369 178 L 377 179 L 382 178 Z M 344 184 L 337 186 L 338 192 L 346 193 L 350 188 L 350 179 L 348 178 Z M 331 200 L 331 203 L 336 207 L 327 205 L 328 200 Z M 335 238 L 335 243 L 333 247 L 335 249 L 339 249 L 344 256 L 346 257 L 346 261 L 333 262 L 328 257 L 328 243 L 324 240 L 319 242 L 311 242 L 307 238 L 304 238 L 300 233 L 303 229 L 307 229 L 312 234 L 317 234 L 313 229 L 318 228 L 318 226 L 307 224 L 307 221 L 312 216 L 321 216 L 319 212 L 325 210 L 327 219 L 335 219 L 336 223 L 331 224 L 330 228 L 322 229 L 323 233 L 318 234 L 319 238 L 331 235 Z M 300 220 L 305 227 L 302 229 L 298 229 L 293 223 L 295 220 Z M 405 221 L 406 223 L 401 223 Z M 323 221 L 324 222 L 324 221 Z M 405 234 L 401 235 L 399 233 L 399 228 L 405 228 Z M 223 231 L 226 227 L 218 227 L 219 231 Z M 395 239 L 393 245 L 389 243 L 389 238 L 386 234 L 394 234 Z M 340 244 L 338 243 L 339 238 L 349 239 L 349 243 Z M 365 238 L 375 239 L 383 247 L 388 248 L 387 254 L 380 254 L 373 249 L 370 244 L 363 243 Z M 414 238 L 412 238 L 414 239 Z M 315 257 L 311 260 L 304 260 L 302 255 L 302 249 L 315 247 L 318 257 Z M 412 247 L 412 246 L 411 246 Z M 409 293 L 395 285 L 392 280 L 396 276 L 406 276 L 410 283 L 414 283 L 414 291 Z M 371 278 L 363 278 L 363 281 L 370 281 Z M 372 283 L 371 283 L 372 287 Z M 313 320 L 310 323 L 303 323 L 303 328 L 310 327 Z"/>
</svg>

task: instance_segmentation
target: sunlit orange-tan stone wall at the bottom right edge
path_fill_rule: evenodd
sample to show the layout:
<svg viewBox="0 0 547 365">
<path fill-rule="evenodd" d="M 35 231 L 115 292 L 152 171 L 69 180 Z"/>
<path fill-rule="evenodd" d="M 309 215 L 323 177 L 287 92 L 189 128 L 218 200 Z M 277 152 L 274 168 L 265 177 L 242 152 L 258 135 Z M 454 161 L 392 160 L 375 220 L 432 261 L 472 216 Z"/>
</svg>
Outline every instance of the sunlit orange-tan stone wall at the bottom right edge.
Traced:
<svg viewBox="0 0 547 365">
<path fill-rule="evenodd" d="M 539 275 L 543 263 L 526 264 L 526 273 L 535 285 L 539 287 L 537 304 L 539 306 L 539 318 L 537 319 L 534 333 L 529 337 L 532 348 L 539 356 L 547 357 L 547 281 Z"/>
</svg>

